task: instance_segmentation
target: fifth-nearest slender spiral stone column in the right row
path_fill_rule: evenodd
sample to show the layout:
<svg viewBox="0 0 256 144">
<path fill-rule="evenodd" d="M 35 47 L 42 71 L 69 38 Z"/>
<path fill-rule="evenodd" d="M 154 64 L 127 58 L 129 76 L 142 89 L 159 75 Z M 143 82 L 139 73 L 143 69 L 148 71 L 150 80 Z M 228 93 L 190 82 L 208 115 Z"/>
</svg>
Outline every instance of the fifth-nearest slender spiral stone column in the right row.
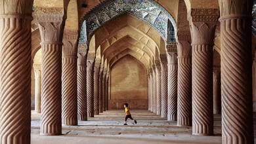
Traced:
<svg viewBox="0 0 256 144">
<path fill-rule="evenodd" d="M 160 54 L 161 59 L 161 117 L 167 118 L 168 68 L 166 54 Z"/>
</svg>

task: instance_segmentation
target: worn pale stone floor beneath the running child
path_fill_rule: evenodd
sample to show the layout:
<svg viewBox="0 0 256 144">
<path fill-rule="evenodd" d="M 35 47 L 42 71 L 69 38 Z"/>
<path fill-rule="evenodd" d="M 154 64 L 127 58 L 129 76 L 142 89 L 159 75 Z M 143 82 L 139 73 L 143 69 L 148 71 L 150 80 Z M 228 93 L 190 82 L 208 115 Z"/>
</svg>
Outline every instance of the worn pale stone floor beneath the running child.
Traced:
<svg viewBox="0 0 256 144">
<path fill-rule="evenodd" d="M 194 136 L 191 126 L 176 126 L 146 110 L 131 110 L 133 120 L 123 125 L 124 112 L 105 111 L 78 126 L 62 126 L 62 135 L 40 135 L 40 115 L 32 111 L 32 144 L 85 144 L 85 143 L 190 143 L 220 144 L 221 116 L 215 115 L 213 136 Z"/>
</svg>

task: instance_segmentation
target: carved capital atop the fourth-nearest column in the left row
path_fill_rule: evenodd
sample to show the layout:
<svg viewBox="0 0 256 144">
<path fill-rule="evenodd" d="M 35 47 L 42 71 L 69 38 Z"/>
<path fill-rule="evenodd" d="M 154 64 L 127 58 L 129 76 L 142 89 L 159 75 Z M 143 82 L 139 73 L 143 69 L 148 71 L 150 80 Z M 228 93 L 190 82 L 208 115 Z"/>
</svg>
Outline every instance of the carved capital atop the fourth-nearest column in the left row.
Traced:
<svg viewBox="0 0 256 144">
<path fill-rule="evenodd" d="M 77 65 L 85 65 L 87 60 L 87 44 L 78 44 Z"/>
</svg>

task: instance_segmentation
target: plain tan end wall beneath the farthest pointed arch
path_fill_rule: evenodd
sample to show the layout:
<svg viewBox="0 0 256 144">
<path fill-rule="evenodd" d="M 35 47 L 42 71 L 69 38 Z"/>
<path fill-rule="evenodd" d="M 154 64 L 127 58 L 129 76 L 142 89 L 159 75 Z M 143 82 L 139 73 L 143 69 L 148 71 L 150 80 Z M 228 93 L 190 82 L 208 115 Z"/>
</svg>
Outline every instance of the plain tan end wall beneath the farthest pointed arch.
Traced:
<svg viewBox="0 0 256 144">
<path fill-rule="evenodd" d="M 148 79 L 145 67 L 132 56 L 125 56 L 111 69 L 108 109 L 148 109 Z"/>
</svg>

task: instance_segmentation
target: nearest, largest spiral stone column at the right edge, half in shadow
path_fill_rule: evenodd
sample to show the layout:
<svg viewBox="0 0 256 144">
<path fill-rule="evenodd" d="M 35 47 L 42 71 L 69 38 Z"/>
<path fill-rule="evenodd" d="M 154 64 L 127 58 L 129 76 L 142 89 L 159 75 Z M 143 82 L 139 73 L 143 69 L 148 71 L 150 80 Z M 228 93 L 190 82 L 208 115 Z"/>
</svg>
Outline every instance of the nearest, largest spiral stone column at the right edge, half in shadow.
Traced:
<svg viewBox="0 0 256 144">
<path fill-rule="evenodd" d="M 252 0 L 219 1 L 223 144 L 253 143 L 251 84 Z"/>
</svg>

